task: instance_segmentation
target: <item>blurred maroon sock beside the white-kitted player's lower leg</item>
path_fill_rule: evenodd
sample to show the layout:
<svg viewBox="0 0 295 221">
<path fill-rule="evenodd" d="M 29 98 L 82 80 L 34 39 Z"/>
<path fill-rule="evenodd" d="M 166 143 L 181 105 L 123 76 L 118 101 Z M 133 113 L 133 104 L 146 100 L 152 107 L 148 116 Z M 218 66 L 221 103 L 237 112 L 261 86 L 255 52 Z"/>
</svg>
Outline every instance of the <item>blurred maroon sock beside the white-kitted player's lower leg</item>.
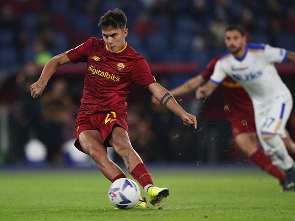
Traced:
<svg viewBox="0 0 295 221">
<path fill-rule="evenodd" d="M 257 164 L 261 169 L 275 176 L 281 181 L 286 179 L 285 174 L 275 165 L 272 164 L 271 160 L 261 151 L 257 150 L 252 156 L 251 160 Z"/>
</svg>

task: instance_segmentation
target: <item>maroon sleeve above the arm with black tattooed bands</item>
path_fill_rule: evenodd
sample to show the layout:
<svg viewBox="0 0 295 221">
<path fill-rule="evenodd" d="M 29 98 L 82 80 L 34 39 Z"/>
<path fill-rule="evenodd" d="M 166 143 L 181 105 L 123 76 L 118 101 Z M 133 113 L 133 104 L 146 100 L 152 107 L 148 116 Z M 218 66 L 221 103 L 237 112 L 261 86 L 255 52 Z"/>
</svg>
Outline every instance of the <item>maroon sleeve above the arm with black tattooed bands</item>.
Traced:
<svg viewBox="0 0 295 221">
<path fill-rule="evenodd" d="M 145 89 L 151 83 L 156 83 L 155 77 L 151 74 L 148 63 L 145 59 L 139 59 L 135 62 L 131 80 L 143 86 Z"/>
</svg>

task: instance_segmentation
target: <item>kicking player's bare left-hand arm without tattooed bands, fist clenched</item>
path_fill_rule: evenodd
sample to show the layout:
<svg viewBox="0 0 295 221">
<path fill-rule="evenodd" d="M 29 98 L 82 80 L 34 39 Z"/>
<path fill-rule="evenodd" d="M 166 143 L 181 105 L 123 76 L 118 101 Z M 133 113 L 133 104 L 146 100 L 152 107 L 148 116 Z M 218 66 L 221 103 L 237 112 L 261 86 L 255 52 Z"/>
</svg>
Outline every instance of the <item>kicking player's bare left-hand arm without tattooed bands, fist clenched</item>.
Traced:
<svg viewBox="0 0 295 221">
<path fill-rule="evenodd" d="M 60 65 L 69 63 L 70 59 L 66 55 L 66 53 L 62 53 L 60 55 L 56 55 L 51 58 L 44 66 L 41 76 L 36 83 L 33 83 L 30 86 L 31 96 L 33 98 L 37 98 L 43 93 L 45 86 L 47 85 L 51 76 L 55 73 L 57 68 Z"/>
</svg>

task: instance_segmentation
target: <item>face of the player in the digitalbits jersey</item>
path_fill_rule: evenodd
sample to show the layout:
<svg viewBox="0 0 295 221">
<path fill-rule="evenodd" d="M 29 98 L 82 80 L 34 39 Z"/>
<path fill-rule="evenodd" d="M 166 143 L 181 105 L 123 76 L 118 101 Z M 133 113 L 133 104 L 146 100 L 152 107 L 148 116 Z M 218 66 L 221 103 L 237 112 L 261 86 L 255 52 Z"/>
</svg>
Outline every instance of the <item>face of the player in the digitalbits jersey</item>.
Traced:
<svg viewBox="0 0 295 221">
<path fill-rule="evenodd" d="M 122 50 L 125 46 L 125 37 L 128 34 L 128 29 L 105 29 L 101 30 L 102 37 L 108 49 L 112 53 Z"/>
</svg>

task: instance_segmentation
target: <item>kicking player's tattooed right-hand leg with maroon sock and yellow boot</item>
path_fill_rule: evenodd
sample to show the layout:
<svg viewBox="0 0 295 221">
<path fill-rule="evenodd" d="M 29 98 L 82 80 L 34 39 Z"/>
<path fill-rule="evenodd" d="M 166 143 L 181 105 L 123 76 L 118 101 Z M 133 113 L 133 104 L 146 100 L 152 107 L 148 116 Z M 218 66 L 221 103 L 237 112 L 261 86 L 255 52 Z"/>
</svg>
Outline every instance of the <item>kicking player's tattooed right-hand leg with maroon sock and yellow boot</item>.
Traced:
<svg viewBox="0 0 295 221">
<path fill-rule="evenodd" d="M 148 201 L 152 204 L 159 204 L 163 198 L 169 195 L 167 188 L 154 187 L 148 168 L 140 156 L 133 149 L 127 131 L 121 127 L 113 130 L 110 144 L 122 157 L 128 172 L 144 188 L 148 194 Z"/>
</svg>

